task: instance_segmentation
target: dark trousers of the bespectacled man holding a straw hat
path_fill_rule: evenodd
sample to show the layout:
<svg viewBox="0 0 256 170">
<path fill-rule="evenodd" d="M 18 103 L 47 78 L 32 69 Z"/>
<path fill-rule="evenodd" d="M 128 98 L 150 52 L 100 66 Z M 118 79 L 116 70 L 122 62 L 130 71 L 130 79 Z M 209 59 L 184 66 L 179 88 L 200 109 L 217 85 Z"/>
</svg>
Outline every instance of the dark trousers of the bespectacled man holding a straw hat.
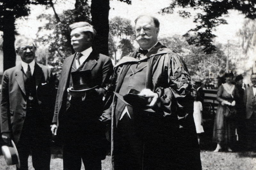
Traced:
<svg viewBox="0 0 256 170">
<path fill-rule="evenodd" d="M 20 139 L 16 144 L 20 157 L 20 168 L 17 167 L 17 170 L 28 170 L 30 152 L 35 170 L 50 170 L 51 130 L 40 114 L 36 109 L 27 111 Z"/>
</svg>

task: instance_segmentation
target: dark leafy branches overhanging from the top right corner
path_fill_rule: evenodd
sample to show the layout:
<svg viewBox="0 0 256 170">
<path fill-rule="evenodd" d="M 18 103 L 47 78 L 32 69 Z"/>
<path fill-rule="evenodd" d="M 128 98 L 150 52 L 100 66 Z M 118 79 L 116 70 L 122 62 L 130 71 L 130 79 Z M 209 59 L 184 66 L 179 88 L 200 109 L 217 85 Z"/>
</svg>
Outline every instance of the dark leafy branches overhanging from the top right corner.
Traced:
<svg viewBox="0 0 256 170">
<path fill-rule="evenodd" d="M 222 17 L 228 15 L 228 10 L 238 10 L 245 14 L 246 18 L 256 18 L 256 1 L 241 0 L 173 0 L 170 6 L 162 9 L 160 13 L 173 13 L 175 7 L 192 8 L 201 11 L 194 16 L 194 22 L 198 23 L 196 28 L 188 30 L 185 37 L 188 37 L 188 44 L 195 46 L 204 46 L 202 48 L 206 54 L 216 51 L 217 47 L 212 44 L 212 39 L 216 35 L 212 34 L 212 30 L 220 24 L 227 24 Z M 191 17 L 188 11 L 179 11 L 183 18 Z M 195 32 L 195 36 L 189 33 Z"/>
</svg>

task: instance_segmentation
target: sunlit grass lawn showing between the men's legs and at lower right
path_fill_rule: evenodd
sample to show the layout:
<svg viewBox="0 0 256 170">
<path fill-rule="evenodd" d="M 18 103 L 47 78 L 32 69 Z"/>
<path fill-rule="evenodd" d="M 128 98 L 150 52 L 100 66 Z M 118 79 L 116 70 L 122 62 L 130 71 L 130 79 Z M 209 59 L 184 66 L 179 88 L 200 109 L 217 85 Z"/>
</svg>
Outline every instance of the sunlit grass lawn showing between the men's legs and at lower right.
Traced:
<svg viewBox="0 0 256 170">
<path fill-rule="evenodd" d="M 110 156 L 102 160 L 102 169 L 110 170 Z M 253 170 L 256 169 L 256 152 L 212 152 L 201 151 L 201 161 L 203 170 Z M 34 170 L 32 167 L 31 156 L 28 159 L 29 170 Z M 0 156 L 1 170 L 15 170 L 15 166 L 6 166 L 4 157 Z M 51 170 L 62 170 L 62 159 L 52 156 Z M 82 170 L 84 165 L 82 164 Z"/>
</svg>

